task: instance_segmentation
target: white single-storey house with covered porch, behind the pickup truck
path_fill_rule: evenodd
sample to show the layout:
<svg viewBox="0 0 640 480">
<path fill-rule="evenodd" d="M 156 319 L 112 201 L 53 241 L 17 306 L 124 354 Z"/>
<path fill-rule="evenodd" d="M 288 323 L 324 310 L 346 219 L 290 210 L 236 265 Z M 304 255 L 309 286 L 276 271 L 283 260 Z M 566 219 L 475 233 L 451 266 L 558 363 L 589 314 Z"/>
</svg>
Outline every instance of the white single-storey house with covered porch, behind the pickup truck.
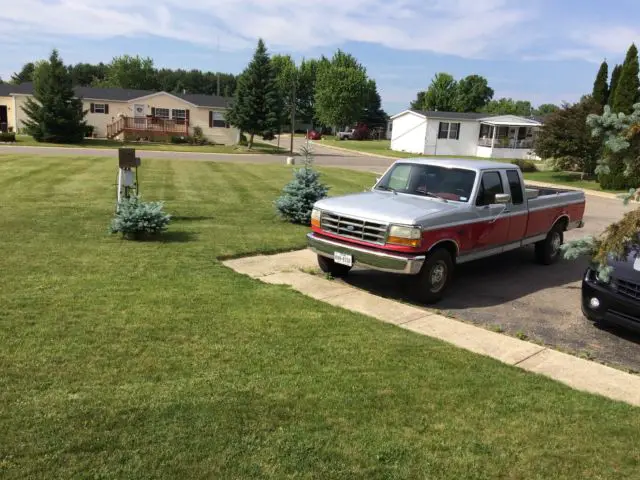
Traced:
<svg viewBox="0 0 640 480">
<path fill-rule="evenodd" d="M 537 159 L 539 119 L 405 110 L 391 117 L 391 149 L 421 155 Z"/>
</svg>

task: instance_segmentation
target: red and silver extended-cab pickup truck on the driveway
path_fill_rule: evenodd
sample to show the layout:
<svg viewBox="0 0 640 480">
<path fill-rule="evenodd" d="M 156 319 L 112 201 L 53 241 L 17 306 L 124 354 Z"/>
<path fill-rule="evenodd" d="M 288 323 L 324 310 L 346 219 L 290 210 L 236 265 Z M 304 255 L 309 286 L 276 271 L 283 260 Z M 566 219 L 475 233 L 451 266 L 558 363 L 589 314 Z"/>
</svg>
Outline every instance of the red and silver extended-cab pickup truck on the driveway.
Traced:
<svg viewBox="0 0 640 480">
<path fill-rule="evenodd" d="M 333 276 L 355 265 L 415 275 L 414 293 L 434 303 L 456 264 L 527 245 L 540 263 L 554 263 L 584 210 L 583 192 L 527 187 L 510 163 L 407 159 L 370 192 L 317 202 L 307 240 Z"/>
</svg>

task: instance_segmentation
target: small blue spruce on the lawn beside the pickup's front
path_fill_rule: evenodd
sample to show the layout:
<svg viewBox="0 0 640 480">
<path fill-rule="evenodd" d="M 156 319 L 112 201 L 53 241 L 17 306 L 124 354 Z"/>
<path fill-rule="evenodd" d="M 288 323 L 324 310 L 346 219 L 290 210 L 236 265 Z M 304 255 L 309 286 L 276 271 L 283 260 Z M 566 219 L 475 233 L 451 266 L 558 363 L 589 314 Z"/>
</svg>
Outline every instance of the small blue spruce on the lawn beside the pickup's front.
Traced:
<svg viewBox="0 0 640 480">
<path fill-rule="evenodd" d="M 327 196 L 329 188 L 320 183 L 320 173 L 312 168 L 311 150 L 300 150 L 304 166 L 293 172 L 293 180 L 282 190 L 282 196 L 275 202 L 280 216 L 291 223 L 309 225 L 313 205 Z"/>
</svg>

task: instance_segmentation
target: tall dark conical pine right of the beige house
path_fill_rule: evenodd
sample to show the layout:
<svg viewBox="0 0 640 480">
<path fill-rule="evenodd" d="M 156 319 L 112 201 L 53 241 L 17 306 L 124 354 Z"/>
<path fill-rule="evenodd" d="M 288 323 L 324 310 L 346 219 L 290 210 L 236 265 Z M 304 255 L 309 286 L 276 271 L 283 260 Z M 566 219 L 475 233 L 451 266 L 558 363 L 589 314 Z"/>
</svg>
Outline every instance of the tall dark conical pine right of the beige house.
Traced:
<svg viewBox="0 0 640 480">
<path fill-rule="evenodd" d="M 256 134 L 276 131 L 281 115 L 281 100 L 275 74 L 262 39 L 253 59 L 238 79 L 235 99 L 227 120 L 250 135 L 249 148 Z"/>
</svg>

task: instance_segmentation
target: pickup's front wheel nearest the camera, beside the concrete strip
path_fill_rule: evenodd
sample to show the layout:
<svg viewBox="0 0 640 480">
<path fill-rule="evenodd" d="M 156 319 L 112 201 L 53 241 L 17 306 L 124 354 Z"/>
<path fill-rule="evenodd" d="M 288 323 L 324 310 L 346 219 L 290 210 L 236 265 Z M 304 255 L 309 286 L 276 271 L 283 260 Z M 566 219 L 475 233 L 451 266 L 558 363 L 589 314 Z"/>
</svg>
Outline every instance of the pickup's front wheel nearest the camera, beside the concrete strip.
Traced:
<svg viewBox="0 0 640 480">
<path fill-rule="evenodd" d="M 414 296 L 416 300 L 433 304 L 442 300 L 453 278 L 453 258 L 449 251 L 439 248 L 431 252 L 415 279 Z"/>
</svg>

